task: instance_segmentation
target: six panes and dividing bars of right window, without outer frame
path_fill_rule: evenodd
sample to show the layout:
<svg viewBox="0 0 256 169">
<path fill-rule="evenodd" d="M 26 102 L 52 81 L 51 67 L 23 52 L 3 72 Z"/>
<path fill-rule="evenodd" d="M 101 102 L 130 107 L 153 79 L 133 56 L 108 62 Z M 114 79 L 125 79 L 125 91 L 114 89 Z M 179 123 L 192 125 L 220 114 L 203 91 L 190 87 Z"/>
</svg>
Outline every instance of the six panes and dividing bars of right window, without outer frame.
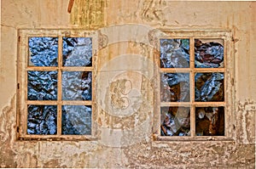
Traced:
<svg viewBox="0 0 256 169">
<path fill-rule="evenodd" d="M 160 136 L 224 136 L 224 40 L 160 39 Z"/>
</svg>

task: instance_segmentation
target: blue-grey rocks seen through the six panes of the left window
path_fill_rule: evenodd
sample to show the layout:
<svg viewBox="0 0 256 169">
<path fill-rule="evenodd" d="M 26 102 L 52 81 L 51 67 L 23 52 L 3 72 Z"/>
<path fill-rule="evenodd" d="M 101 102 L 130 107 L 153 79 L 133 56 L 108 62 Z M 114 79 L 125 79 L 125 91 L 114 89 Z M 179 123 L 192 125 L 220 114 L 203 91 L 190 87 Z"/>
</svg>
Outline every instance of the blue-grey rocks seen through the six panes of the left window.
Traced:
<svg viewBox="0 0 256 169">
<path fill-rule="evenodd" d="M 61 134 L 90 135 L 91 105 L 71 102 L 58 108 L 57 101 L 91 100 L 92 71 L 76 68 L 92 66 L 92 40 L 63 37 L 61 57 L 58 56 L 59 42 L 58 37 L 29 37 L 28 67 L 32 70 L 27 71 L 27 100 L 35 104 L 27 105 L 26 132 L 56 134 L 61 108 Z M 52 102 L 45 104 L 45 101 Z"/>
</svg>

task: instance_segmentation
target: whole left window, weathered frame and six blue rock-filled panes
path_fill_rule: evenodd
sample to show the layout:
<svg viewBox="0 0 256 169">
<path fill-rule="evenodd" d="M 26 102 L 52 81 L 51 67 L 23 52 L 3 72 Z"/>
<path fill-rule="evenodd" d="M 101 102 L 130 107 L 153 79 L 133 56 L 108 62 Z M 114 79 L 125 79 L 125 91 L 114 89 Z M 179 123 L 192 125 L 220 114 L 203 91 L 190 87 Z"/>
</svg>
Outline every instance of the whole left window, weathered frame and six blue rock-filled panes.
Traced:
<svg viewBox="0 0 256 169">
<path fill-rule="evenodd" d="M 20 30 L 18 138 L 92 139 L 96 33 Z"/>
</svg>

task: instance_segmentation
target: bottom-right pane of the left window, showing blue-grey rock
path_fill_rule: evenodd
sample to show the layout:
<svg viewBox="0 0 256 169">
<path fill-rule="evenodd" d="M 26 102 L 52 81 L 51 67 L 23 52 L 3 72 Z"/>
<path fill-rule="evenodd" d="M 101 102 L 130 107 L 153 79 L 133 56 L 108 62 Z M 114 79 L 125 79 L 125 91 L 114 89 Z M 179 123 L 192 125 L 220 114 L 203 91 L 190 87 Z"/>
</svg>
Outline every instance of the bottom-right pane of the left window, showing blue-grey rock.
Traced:
<svg viewBox="0 0 256 169">
<path fill-rule="evenodd" d="M 91 132 L 91 106 L 63 105 L 62 134 L 89 135 Z"/>
</svg>

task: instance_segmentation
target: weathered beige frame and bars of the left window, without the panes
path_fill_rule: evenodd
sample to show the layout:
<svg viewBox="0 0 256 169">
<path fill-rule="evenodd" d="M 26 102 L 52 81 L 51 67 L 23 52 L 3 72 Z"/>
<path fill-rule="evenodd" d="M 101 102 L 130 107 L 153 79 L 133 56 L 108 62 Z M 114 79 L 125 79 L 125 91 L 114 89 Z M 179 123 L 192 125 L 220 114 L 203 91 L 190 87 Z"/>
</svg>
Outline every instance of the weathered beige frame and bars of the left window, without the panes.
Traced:
<svg viewBox="0 0 256 169">
<path fill-rule="evenodd" d="M 58 37 L 58 65 L 56 67 L 40 67 L 28 65 L 28 38 L 29 37 Z M 92 39 L 92 65 L 91 66 L 62 66 L 62 37 L 90 37 Z M 18 59 L 17 59 L 17 132 L 19 140 L 95 140 L 96 118 L 95 106 L 95 72 L 97 32 L 79 29 L 20 29 L 18 30 Z M 57 100 L 28 100 L 27 99 L 27 71 L 28 70 L 55 70 L 57 76 Z M 61 99 L 61 71 L 91 71 L 92 95 L 91 100 L 62 100 Z M 27 134 L 27 105 L 28 104 L 54 104 L 57 105 L 57 133 L 55 135 Z M 62 105 L 90 105 L 91 106 L 91 134 L 90 135 L 62 135 L 61 134 L 61 106 Z"/>
</svg>

